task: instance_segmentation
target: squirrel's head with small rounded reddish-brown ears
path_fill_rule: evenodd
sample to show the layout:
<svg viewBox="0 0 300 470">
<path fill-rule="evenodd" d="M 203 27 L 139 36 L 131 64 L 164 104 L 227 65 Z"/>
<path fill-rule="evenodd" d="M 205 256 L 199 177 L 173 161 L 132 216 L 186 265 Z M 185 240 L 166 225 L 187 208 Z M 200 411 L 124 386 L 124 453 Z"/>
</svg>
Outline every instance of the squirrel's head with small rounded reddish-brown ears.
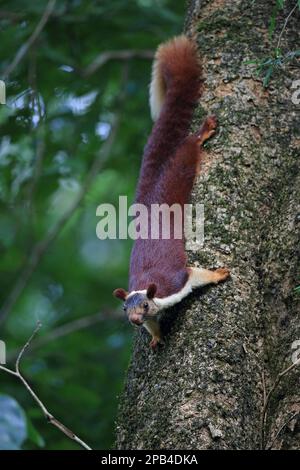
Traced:
<svg viewBox="0 0 300 470">
<path fill-rule="evenodd" d="M 153 300 L 156 290 L 156 285 L 150 284 L 145 292 L 128 293 L 124 289 L 116 289 L 113 294 L 118 299 L 123 300 L 123 309 L 130 323 L 141 326 L 159 311 L 159 307 Z"/>
</svg>

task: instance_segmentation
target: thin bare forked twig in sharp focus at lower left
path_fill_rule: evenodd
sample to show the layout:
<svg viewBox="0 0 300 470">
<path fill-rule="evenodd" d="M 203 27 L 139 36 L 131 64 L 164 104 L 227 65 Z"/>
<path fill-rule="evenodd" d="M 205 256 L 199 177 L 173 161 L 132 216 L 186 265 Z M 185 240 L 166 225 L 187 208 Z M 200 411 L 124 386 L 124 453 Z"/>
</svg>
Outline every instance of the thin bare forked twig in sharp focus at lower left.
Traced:
<svg viewBox="0 0 300 470">
<path fill-rule="evenodd" d="M 31 386 L 28 384 L 28 382 L 26 381 L 26 379 L 23 377 L 23 375 L 21 374 L 20 372 L 20 363 L 21 363 L 21 360 L 22 360 L 22 357 L 24 355 L 24 353 L 26 352 L 26 350 L 29 348 L 29 346 L 31 345 L 31 342 L 32 340 L 35 338 L 36 334 L 38 333 L 38 331 L 40 330 L 41 328 L 41 323 L 38 323 L 34 332 L 32 333 L 31 337 L 29 338 L 29 340 L 27 341 L 27 343 L 23 346 L 23 348 L 21 349 L 18 357 L 17 357 L 17 360 L 16 360 L 16 364 L 15 364 L 15 370 L 12 370 L 12 369 L 8 369 L 7 367 L 4 367 L 4 366 L 1 366 L 0 365 L 0 370 L 2 370 L 3 372 L 7 372 L 8 374 L 11 374 L 11 375 L 14 375 L 15 377 L 17 377 L 22 383 L 23 385 L 25 386 L 25 388 L 27 389 L 27 391 L 30 393 L 30 395 L 32 396 L 32 398 L 34 399 L 34 401 L 38 404 L 38 406 L 40 407 L 40 409 L 42 410 L 46 420 L 52 424 L 53 426 L 57 427 L 62 433 L 64 433 L 69 439 L 77 442 L 79 445 L 81 445 L 81 447 L 83 447 L 84 449 L 86 450 L 92 450 L 91 447 L 89 447 L 82 439 L 80 439 L 78 436 L 76 436 L 76 434 L 73 433 L 73 431 L 71 431 L 70 429 L 68 429 L 64 424 L 62 424 L 58 419 L 56 419 L 51 413 L 49 413 L 48 409 L 46 408 L 46 406 L 44 405 L 44 403 L 39 399 L 39 397 L 37 396 L 37 394 L 33 391 L 33 389 L 31 388 Z"/>
</svg>

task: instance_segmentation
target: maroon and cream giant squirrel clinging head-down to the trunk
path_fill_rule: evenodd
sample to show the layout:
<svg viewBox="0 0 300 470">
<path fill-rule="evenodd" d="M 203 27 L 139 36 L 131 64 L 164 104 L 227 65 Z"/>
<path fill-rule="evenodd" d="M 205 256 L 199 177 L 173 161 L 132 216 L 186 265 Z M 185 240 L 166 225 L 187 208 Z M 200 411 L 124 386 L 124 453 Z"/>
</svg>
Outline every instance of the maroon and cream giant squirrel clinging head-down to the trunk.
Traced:
<svg viewBox="0 0 300 470">
<path fill-rule="evenodd" d="M 150 84 L 150 109 L 155 121 L 144 150 L 136 203 L 187 204 L 198 174 L 201 146 L 216 129 L 215 116 L 189 134 L 194 108 L 202 91 L 201 65 L 194 42 L 175 37 L 156 51 Z M 172 222 L 171 222 L 172 223 Z M 173 221 L 174 225 L 174 221 Z M 174 227 L 173 227 L 174 228 Z M 152 335 L 150 347 L 163 344 L 158 313 L 179 303 L 194 288 L 217 284 L 227 268 L 187 266 L 184 237 L 135 240 L 130 259 L 129 290 L 113 294 L 124 302 L 129 321 Z"/>
</svg>

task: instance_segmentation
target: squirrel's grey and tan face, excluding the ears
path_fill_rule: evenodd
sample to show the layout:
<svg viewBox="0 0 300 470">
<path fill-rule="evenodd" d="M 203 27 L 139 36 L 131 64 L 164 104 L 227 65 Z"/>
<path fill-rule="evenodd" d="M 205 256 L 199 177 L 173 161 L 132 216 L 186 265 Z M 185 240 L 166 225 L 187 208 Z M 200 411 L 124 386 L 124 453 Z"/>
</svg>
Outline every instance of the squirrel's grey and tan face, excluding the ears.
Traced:
<svg viewBox="0 0 300 470">
<path fill-rule="evenodd" d="M 128 320 L 134 325 L 142 325 L 147 318 L 158 312 L 158 307 L 146 294 L 132 294 L 124 302 L 124 310 Z"/>
</svg>

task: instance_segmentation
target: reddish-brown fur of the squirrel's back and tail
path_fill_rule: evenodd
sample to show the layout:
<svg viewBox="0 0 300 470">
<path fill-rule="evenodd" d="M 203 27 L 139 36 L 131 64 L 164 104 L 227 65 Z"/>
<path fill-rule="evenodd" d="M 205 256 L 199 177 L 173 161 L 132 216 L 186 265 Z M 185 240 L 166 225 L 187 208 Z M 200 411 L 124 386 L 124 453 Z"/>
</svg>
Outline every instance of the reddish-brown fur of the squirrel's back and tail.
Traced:
<svg viewBox="0 0 300 470">
<path fill-rule="evenodd" d="M 201 68 L 193 43 L 186 38 L 158 51 L 167 93 L 145 147 L 136 202 L 188 203 L 199 160 L 199 135 L 188 135 L 200 93 Z M 149 214 L 150 227 L 150 214 Z M 171 219 L 171 234 L 173 232 Z M 174 234 L 173 234 L 174 235 Z M 130 262 L 129 292 L 157 285 L 157 297 L 178 292 L 188 279 L 184 239 L 135 241 Z"/>
</svg>

